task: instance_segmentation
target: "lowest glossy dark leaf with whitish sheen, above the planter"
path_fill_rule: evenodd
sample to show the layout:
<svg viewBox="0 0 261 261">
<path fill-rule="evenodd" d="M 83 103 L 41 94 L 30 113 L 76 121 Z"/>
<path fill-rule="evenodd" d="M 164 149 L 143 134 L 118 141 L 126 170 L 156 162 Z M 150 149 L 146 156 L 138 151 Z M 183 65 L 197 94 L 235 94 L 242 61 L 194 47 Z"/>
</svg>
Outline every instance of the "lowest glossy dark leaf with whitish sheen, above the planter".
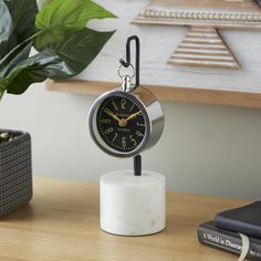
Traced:
<svg viewBox="0 0 261 261">
<path fill-rule="evenodd" d="M 18 63 L 4 79 L 0 79 L 0 86 L 4 86 L 8 93 L 22 94 L 32 83 L 74 74 L 53 50 L 48 49 Z"/>
</svg>

